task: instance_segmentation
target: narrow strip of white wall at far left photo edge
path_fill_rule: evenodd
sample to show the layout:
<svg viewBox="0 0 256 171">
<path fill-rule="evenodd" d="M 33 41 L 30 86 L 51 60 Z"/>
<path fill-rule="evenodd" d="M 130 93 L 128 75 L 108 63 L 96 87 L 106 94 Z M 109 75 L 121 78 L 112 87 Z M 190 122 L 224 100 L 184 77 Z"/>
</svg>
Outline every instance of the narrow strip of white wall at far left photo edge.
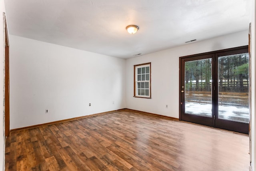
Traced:
<svg viewBox="0 0 256 171">
<path fill-rule="evenodd" d="M 4 116 L 3 116 L 3 102 L 4 102 L 4 26 L 3 26 L 3 12 L 5 12 L 4 1 L 0 1 L 0 170 L 4 170 Z"/>
</svg>

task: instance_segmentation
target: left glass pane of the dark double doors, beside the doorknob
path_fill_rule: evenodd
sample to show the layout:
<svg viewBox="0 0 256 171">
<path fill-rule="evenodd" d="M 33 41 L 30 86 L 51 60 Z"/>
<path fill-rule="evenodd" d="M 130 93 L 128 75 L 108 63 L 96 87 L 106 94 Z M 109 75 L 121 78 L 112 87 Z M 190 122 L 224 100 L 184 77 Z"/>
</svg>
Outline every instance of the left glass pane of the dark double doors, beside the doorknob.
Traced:
<svg viewBox="0 0 256 171">
<path fill-rule="evenodd" d="M 185 62 L 185 113 L 212 117 L 211 58 Z"/>
</svg>

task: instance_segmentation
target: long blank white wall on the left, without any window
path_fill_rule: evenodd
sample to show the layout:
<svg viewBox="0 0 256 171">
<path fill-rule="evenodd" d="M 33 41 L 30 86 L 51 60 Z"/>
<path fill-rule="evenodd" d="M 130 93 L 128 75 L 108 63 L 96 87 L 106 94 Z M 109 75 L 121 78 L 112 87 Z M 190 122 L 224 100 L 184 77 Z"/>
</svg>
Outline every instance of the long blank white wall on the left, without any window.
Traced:
<svg viewBox="0 0 256 171">
<path fill-rule="evenodd" d="M 124 59 L 13 35 L 9 40 L 10 129 L 125 107 Z"/>
</svg>

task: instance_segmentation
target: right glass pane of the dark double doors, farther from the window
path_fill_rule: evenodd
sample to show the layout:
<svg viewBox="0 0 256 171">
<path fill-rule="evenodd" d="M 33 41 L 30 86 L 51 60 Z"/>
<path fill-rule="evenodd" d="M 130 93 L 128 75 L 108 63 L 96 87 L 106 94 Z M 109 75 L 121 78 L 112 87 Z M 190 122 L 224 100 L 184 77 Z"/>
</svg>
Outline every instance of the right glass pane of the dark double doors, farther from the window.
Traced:
<svg viewBox="0 0 256 171">
<path fill-rule="evenodd" d="M 218 119 L 249 123 L 249 55 L 218 58 Z"/>
</svg>

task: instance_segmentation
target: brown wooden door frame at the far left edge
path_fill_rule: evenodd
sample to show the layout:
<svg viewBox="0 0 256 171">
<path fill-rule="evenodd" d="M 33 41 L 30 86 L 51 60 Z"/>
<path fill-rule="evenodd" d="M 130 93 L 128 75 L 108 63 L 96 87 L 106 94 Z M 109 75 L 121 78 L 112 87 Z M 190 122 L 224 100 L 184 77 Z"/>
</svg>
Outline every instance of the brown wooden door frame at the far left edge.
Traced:
<svg viewBox="0 0 256 171">
<path fill-rule="evenodd" d="M 4 53 L 4 128 L 5 137 L 10 135 L 10 72 L 9 72 L 9 38 L 6 23 L 6 15 L 4 16 L 4 35 L 5 35 L 5 53 Z"/>
</svg>

